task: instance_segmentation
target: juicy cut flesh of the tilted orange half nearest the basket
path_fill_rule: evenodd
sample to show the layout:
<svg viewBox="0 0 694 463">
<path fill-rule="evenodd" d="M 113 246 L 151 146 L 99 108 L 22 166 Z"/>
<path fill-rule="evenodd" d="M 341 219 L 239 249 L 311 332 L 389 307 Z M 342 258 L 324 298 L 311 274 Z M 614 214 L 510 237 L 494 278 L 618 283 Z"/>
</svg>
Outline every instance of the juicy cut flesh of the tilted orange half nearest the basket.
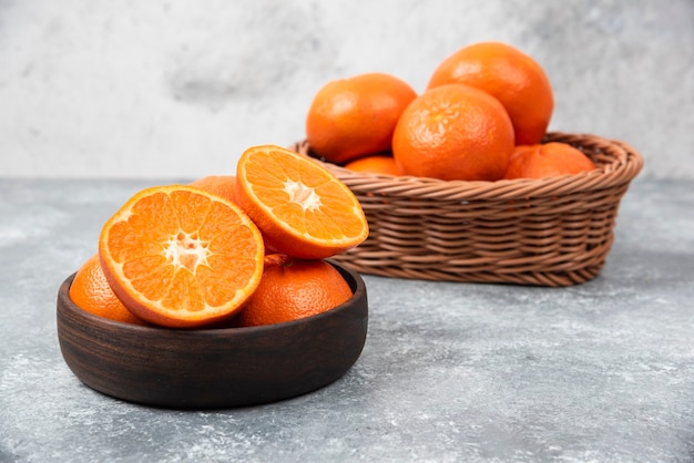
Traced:
<svg viewBox="0 0 694 463">
<path fill-rule="evenodd" d="M 345 206 L 345 189 L 312 163 L 285 158 L 262 152 L 247 164 L 246 179 L 261 203 L 299 235 L 329 241 L 358 236 L 361 213 L 351 200 Z"/>
</svg>

